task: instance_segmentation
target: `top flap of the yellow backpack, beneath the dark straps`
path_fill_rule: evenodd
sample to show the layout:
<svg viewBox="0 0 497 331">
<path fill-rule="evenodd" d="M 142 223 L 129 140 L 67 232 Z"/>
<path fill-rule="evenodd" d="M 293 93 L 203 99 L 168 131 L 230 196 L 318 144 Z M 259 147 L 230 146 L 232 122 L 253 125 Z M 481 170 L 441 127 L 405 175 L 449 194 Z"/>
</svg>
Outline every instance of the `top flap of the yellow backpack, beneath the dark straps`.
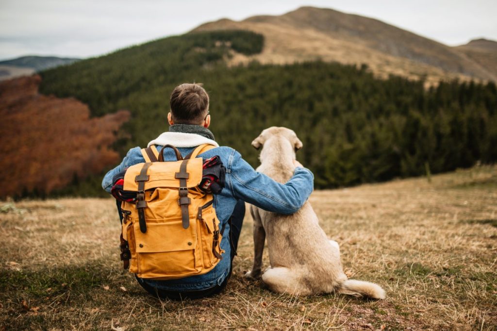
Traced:
<svg viewBox="0 0 497 331">
<path fill-rule="evenodd" d="M 147 174 L 149 179 L 145 182 L 145 189 L 149 190 L 156 187 L 179 188 L 180 182 L 176 178 L 176 172 L 179 172 L 180 165 L 183 161 L 175 162 L 154 162 L 148 168 Z M 186 172 L 186 187 L 193 188 L 200 184 L 202 180 L 202 158 L 188 160 Z M 136 177 L 140 175 L 144 163 L 130 166 L 124 175 L 124 187 L 126 191 L 138 191 L 138 182 Z"/>
</svg>

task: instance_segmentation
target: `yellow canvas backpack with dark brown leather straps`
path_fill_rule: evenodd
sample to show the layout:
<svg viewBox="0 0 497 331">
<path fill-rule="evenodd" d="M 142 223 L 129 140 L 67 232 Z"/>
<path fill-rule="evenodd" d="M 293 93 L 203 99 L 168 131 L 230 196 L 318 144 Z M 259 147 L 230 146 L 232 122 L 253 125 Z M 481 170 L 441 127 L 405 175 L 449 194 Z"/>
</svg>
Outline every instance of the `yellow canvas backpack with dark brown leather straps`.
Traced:
<svg viewBox="0 0 497 331">
<path fill-rule="evenodd" d="M 178 161 L 164 161 L 165 148 Z M 142 149 L 145 163 L 126 170 L 123 189 L 136 191 L 137 201 L 121 205 L 124 268 L 140 278 L 177 279 L 207 273 L 223 258 L 213 195 L 197 187 L 203 164 L 197 155 L 212 148 L 200 145 L 183 159 L 171 145 L 160 153 L 151 146 Z"/>
</svg>

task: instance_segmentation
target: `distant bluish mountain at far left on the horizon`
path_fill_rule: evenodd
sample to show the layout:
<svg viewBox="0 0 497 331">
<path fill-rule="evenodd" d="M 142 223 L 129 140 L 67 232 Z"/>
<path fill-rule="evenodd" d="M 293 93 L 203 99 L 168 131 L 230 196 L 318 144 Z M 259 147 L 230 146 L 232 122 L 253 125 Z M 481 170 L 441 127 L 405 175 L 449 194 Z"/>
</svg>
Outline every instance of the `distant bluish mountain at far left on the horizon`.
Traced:
<svg viewBox="0 0 497 331">
<path fill-rule="evenodd" d="M 68 65 L 76 61 L 80 61 L 80 59 L 55 56 L 23 56 L 0 61 L 0 81 L 19 76 L 29 76 L 38 71 Z"/>
</svg>

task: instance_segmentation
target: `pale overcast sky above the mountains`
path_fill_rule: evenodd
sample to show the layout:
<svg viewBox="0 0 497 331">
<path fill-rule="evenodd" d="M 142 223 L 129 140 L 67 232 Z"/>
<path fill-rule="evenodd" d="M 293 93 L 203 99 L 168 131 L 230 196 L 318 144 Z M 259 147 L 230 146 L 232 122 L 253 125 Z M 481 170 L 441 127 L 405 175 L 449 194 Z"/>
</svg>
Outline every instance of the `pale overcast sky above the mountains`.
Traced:
<svg viewBox="0 0 497 331">
<path fill-rule="evenodd" d="M 497 0 L 0 0 L 0 59 L 96 56 L 222 17 L 279 15 L 303 5 L 377 18 L 451 46 L 497 40 Z"/>
</svg>

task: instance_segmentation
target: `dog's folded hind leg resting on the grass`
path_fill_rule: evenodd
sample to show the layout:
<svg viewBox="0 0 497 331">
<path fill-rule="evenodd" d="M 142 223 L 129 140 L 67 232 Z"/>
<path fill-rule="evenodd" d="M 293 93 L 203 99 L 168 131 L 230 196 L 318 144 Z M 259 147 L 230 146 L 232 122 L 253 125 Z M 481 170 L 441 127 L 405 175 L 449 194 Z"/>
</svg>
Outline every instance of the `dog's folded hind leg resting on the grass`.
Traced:
<svg viewBox="0 0 497 331">
<path fill-rule="evenodd" d="M 262 274 L 262 281 L 274 292 L 290 295 L 312 294 L 312 290 L 302 282 L 301 274 L 289 268 L 271 268 Z"/>
</svg>

